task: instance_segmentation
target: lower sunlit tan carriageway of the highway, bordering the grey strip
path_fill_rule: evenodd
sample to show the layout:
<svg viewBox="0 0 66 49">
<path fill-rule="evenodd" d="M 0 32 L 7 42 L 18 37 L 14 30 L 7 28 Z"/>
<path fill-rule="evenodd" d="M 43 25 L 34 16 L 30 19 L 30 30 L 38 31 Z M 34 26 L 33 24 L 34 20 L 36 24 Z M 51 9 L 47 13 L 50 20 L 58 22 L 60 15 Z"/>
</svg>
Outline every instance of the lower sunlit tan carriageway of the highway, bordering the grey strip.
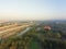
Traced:
<svg viewBox="0 0 66 49">
<path fill-rule="evenodd" d="M 23 26 L 18 26 L 14 28 L 9 28 L 7 30 L 0 32 L 0 38 L 7 38 L 10 37 L 19 32 L 21 32 L 21 29 L 29 27 L 29 25 L 23 25 Z"/>
</svg>

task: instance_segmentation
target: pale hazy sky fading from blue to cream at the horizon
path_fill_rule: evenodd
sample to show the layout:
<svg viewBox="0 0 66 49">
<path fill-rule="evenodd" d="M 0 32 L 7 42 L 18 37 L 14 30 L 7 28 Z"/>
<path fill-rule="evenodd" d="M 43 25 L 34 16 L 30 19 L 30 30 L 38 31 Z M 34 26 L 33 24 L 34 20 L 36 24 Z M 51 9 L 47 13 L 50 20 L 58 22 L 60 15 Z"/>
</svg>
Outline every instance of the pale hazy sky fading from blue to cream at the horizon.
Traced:
<svg viewBox="0 0 66 49">
<path fill-rule="evenodd" d="M 0 20 L 66 19 L 66 0 L 0 0 Z"/>
</svg>

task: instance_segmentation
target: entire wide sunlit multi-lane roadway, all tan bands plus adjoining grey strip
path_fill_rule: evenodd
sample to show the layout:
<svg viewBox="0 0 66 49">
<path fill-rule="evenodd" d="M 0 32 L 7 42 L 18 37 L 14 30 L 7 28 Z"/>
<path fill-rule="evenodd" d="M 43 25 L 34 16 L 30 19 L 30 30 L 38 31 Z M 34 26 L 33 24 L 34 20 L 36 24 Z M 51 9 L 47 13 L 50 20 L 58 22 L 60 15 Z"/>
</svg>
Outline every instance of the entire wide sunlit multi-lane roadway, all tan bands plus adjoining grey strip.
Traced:
<svg viewBox="0 0 66 49">
<path fill-rule="evenodd" d="M 18 33 L 19 33 L 18 35 L 24 34 L 26 30 L 30 29 L 29 26 L 30 26 L 30 24 L 21 25 L 21 26 L 16 26 L 16 25 L 7 26 L 7 28 L 3 28 L 2 30 L 0 30 L 0 38 L 7 38 L 12 35 L 15 35 Z M 22 32 L 23 28 L 26 28 L 26 29 L 24 32 Z M 21 34 L 20 34 L 20 32 L 21 32 Z"/>
</svg>

